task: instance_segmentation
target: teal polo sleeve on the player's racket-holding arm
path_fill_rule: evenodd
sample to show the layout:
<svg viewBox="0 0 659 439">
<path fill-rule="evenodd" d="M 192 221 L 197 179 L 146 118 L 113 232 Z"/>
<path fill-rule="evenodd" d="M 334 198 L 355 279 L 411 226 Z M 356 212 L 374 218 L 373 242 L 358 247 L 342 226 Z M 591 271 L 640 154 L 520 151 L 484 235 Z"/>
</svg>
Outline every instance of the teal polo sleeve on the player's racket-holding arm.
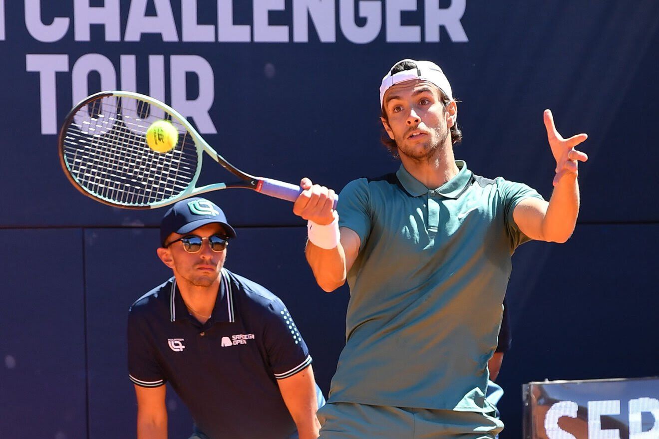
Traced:
<svg viewBox="0 0 659 439">
<path fill-rule="evenodd" d="M 368 180 L 358 178 L 345 185 L 337 204 L 339 227 L 347 227 L 357 233 L 362 248 L 368 240 L 371 228 L 369 201 Z"/>
</svg>

